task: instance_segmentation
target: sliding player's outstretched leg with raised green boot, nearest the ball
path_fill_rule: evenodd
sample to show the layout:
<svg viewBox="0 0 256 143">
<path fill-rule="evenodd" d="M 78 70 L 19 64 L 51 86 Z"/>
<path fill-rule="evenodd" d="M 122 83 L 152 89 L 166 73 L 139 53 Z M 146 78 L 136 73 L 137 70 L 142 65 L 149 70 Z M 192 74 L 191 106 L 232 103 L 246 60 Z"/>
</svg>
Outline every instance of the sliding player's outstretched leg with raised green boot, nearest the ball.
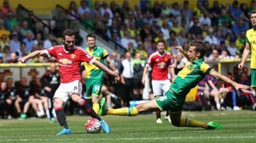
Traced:
<svg viewBox="0 0 256 143">
<path fill-rule="evenodd" d="M 119 108 L 119 109 L 111 109 L 107 106 L 107 103 L 105 101 L 105 98 L 103 97 L 100 100 L 100 111 L 99 114 L 101 116 L 105 115 L 118 115 L 118 116 L 137 116 L 140 113 L 143 112 L 155 112 L 160 111 L 159 107 L 156 105 L 155 100 L 151 100 L 149 102 L 139 104 L 136 107 L 132 108 Z"/>
</svg>

